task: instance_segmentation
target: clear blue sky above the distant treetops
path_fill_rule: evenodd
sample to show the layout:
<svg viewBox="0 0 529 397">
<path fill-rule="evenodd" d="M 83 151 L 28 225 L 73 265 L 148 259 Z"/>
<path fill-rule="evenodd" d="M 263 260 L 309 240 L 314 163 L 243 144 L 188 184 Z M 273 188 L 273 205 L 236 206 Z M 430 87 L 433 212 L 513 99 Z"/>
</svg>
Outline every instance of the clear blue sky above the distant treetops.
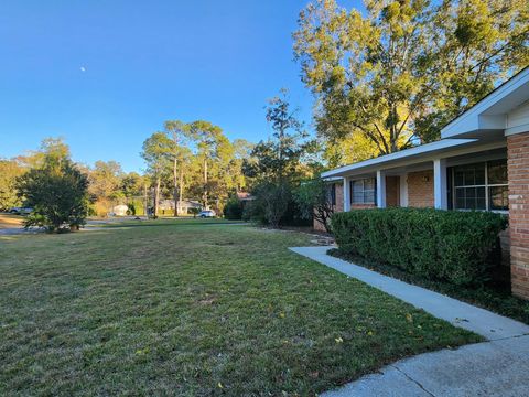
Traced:
<svg viewBox="0 0 529 397">
<path fill-rule="evenodd" d="M 0 158 L 61 136 L 76 161 L 139 171 L 143 140 L 168 119 L 258 141 L 281 87 L 310 122 L 291 40 L 306 2 L 2 1 Z"/>
</svg>

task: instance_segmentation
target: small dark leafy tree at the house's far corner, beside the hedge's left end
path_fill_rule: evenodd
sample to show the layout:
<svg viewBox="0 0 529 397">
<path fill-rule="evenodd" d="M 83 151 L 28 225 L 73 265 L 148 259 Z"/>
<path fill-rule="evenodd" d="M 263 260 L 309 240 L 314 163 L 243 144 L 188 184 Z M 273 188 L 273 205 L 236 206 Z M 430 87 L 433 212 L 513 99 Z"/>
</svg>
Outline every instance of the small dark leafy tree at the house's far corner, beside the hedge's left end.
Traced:
<svg viewBox="0 0 529 397">
<path fill-rule="evenodd" d="M 316 219 L 325 227 L 325 232 L 331 233 L 330 219 L 334 214 L 334 206 L 330 197 L 330 185 L 324 180 L 302 183 L 294 194 L 294 200 L 305 219 Z"/>
</svg>

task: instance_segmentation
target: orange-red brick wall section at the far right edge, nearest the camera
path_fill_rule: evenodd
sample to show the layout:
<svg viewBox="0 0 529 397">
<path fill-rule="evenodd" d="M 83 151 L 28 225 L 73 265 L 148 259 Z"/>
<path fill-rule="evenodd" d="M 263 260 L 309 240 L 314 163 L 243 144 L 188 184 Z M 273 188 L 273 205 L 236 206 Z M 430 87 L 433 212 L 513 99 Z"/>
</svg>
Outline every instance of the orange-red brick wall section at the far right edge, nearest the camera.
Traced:
<svg viewBox="0 0 529 397">
<path fill-rule="evenodd" d="M 512 293 L 529 299 L 529 132 L 507 137 Z"/>
</svg>

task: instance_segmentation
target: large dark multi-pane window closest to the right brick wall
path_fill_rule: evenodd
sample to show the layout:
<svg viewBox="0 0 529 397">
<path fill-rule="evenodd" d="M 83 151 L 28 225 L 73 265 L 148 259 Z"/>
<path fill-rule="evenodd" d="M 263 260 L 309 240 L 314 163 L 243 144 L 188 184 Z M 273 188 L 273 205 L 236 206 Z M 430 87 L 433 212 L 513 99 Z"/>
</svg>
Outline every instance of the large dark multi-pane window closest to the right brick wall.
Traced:
<svg viewBox="0 0 529 397">
<path fill-rule="evenodd" d="M 453 168 L 455 210 L 508 210 L 507 160 Z"/>
</svg>

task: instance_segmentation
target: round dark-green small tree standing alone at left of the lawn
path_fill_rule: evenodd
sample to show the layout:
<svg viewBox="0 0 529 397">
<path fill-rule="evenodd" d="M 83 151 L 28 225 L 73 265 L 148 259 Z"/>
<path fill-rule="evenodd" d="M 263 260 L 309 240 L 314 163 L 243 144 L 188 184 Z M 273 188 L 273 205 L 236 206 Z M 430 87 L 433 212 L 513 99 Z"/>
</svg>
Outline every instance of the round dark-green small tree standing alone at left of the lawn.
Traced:
<svg viewBox="0 0 529 397">
<path fill-rule="evenodd" d="M 18 179 L 19 196 L 33 213 L 24 226 L 76 230 L 88 214 L 88 178 L 68 158 L 46 157 L 40 169 Z"/>
</svg>

